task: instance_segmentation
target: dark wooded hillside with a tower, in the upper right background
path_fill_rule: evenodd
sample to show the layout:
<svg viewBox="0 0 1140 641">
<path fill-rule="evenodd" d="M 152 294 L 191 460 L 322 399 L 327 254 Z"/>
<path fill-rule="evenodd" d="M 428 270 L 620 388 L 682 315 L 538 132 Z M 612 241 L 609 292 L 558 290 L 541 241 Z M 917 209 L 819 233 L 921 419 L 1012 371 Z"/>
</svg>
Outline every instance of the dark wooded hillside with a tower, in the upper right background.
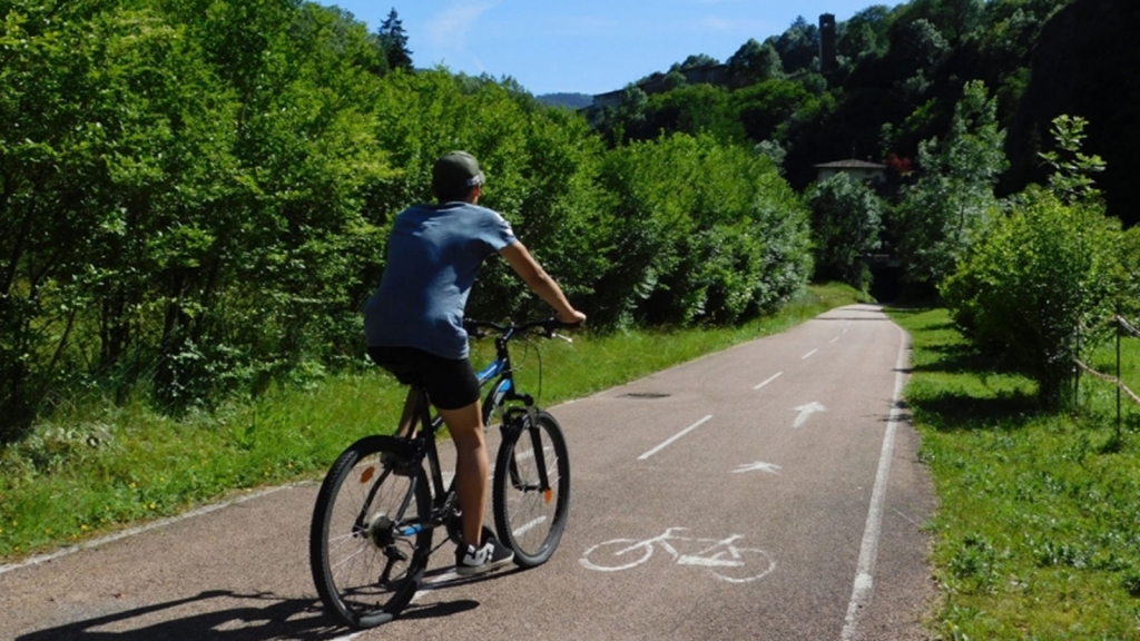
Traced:
<svg viewBox="0 0 1140 641">
<path fill-rule="evenodd" d="M 994 121 L 1009 132 L 999 195 L 1044 181 L 1050 122 L 1085 117 L 1088 147 L 1107 161 L 1109 213 L 1140 222 L 1131 180 L 1140 17 L 1122 0 L 913 0 L 876 5 L 834 29 L 834 59 L 823 68 L 821 30 L 805 18 L 764 42 L 743 43 L 723 63 L 693 55 L 632 82 L 593 124 L 610 144 L 660 131 L 703 130 L 740 144 L 779 147 L 789 181 L 804 190 L 814 164 L 838 159 L 887 163 L 894 186 L 917 169 L 920 145 L 944 137 L 967 83 L 980 81 Z M 712 82 L 684 71 L 722 65 Z M 644 89 L 657 81 L 650 91 Z M 663 90 L 661 90 L 663 89 Z"/>
</svg>

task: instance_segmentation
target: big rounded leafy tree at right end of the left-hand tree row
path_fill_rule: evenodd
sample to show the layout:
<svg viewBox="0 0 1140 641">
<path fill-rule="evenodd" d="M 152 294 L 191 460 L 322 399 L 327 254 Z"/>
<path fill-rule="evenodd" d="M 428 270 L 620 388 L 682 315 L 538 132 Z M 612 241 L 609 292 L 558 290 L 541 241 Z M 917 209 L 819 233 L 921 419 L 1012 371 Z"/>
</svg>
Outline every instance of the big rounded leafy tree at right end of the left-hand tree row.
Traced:
<svg viewBox="0 0 1140 641">
<path fill-rule="evenodd" d="M 673 135 L 610 152 L 612 212 L 592 317 L 731 323 L 787 300 L 811 270 L 807 218 L 764 156 Z"/>
</svg>

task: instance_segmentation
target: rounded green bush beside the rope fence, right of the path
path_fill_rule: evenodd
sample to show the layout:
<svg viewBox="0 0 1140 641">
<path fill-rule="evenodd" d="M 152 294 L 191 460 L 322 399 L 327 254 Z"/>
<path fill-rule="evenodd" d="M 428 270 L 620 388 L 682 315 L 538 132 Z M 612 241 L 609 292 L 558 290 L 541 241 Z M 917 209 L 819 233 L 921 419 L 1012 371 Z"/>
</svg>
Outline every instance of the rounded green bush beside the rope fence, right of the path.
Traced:
<svg viewBox="0 0 1140 641">
<path fill-rule="evenodd" d="M 1089 176 L 1101 162 L 1080 149 L 1083 124 L 1057 119 L 1050 188 L 1011 200 L 943 286 L 966 335 L 1033 378 L 1047 405 L 1072 400 L 1076 360 L 1137 302 L 1121 222 L 1105 216 Z"/>
</svg>

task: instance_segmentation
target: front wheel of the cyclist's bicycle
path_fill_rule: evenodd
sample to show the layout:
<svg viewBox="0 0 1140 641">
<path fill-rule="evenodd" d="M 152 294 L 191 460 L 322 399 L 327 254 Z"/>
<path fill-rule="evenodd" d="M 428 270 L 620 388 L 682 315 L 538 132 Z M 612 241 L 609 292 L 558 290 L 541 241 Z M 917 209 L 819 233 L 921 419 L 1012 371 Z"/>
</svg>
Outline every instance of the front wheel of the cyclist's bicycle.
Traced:
<svg viewBox="0 0 1140 641">
<path fill-rule="evenodd" d="M 522 568 L 545 563 L 559 546 L 570 511 L 570 457 L 562 427 L 546 412 L 536 425 L 523 409 L 508 411 L 495 461 L 492 510 L 499 539 Z M 543 453 L 536 456 L 535 451 Z M 539 487 L 538 461 L 548 488 Z"/>
</svg>

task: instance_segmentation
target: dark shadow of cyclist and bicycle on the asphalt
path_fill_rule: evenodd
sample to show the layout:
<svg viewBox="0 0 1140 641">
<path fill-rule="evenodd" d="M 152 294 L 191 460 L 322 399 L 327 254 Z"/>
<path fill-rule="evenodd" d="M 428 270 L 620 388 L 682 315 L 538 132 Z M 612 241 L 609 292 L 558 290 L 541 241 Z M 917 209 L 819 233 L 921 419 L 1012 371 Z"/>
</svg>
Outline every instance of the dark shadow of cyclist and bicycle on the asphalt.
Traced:
<svg viewBox="0 0 1140 641">
<path fill-rule="evenodd" d="M 176 608 L 212 599 L 241 601 L 237 607 L 221 607 L 207 612 L 165 618 Z M 254 601 L 254 603 L 250 603 Z M 263 606 L 256 603 L 260 601 Z M 458 600 L 409 608 L 400 618 L 429 618 L 458 614 L 479 607 L 475 601 Z M 138 619 L 137 622 L 132 619 Z M 132 625 L 137 624 L 137 625 Z M 127 628 L 127 630 L 124 630 Z M 226 590 L 154 603 L 112 615 L 40 630 L 16 641 L 269 641 L 296 639 L 324 641 L 343 638 L 348 630 L 327 617 L 318 601 L 282 599 L 271 593 L 239 594 Z"/>
</svg>

